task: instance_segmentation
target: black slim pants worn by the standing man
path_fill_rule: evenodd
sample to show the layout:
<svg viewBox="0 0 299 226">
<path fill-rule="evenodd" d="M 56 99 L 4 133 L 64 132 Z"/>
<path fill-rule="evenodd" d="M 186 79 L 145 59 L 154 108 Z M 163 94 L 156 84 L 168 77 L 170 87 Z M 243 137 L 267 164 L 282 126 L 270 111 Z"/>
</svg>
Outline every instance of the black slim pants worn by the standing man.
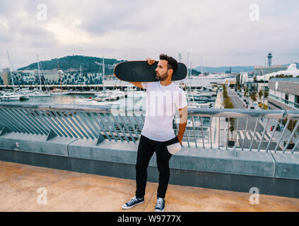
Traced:
<svg viewBox="0 0 299 226">
<path fill-rule="evenodd" d="M 136 160 L 136 197 L 143 198 L 146 192 L 147 168 L 153 153 L 156 152 L 157 167 L 159 170 L 158 198 L 165 198 L 170 178 L 169 160 L 172 156 L 166 146 L 180 142 L 177 136 L 170 141 L 153 141 L 142 136 L 139 141 Z"/>
</svg>

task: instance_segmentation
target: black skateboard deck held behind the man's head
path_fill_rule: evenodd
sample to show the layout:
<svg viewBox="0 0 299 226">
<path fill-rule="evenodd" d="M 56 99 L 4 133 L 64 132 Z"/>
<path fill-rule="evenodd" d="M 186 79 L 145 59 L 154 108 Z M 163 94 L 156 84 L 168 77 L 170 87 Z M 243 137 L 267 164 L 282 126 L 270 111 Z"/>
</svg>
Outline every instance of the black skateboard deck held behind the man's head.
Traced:
<svg viewBox="0 0 299 226">
<path fill-rule="evenodd" d="M 147 61 L 126 61 L 115 66 L 115 76 L 127 82 L 156 82 L 158 61 L 149 65 Z M 177 71 L 172 75 L 172 81 L 179 81 L 187 76 L 187 67 L 178 63 Z"/>
</svg>

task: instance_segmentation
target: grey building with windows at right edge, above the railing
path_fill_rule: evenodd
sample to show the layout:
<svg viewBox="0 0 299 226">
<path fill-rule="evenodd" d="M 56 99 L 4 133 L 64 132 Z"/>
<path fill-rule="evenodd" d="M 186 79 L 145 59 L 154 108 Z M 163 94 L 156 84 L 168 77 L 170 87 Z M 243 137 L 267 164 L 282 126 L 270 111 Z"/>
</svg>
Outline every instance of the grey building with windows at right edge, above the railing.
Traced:
<svg viewBox="0 0 299 226">
<path fill-rule="evenodd" d="M 269 109 L 299 109 L 299 78 L 271 78 Z"/>
</svg>

